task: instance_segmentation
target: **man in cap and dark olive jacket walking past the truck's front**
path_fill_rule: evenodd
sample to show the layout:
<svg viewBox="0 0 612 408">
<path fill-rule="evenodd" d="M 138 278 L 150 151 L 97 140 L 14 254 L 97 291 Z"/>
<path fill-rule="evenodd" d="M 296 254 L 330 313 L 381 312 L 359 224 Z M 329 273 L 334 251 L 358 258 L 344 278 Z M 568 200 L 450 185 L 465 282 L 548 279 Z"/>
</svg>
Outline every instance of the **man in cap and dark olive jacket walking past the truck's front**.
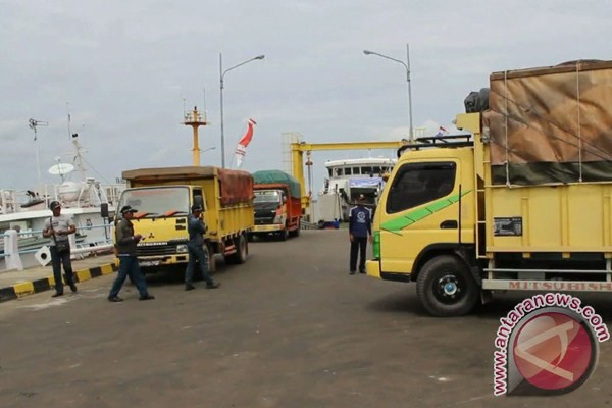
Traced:
<svg viewBox="0 0 612 408">
<path fill-rule="evenodd" d="M 127 275 L 130 275 L 136 285 L 138 294 L 140 294 L 140 300 L 155 299 L 154 296 L 149 295 L 149 292 L 147 292 L 147 283 L 143 273 L 140 272 L 138 258 L 136 258 L 136 244 L 138 244 L 143 236 L 140 234 L 134 235 L 134 227 L 130 220 L 132 220 L 135 212 L 137 210 L 130 206 L 121 207 L 122 219 L 117 223 L 115 230 L 119 274 L 108 294 L 109 302 L 122 302 L 123 299 L 119 297 L 119 291 L 121 291 Z"/>
</svg>

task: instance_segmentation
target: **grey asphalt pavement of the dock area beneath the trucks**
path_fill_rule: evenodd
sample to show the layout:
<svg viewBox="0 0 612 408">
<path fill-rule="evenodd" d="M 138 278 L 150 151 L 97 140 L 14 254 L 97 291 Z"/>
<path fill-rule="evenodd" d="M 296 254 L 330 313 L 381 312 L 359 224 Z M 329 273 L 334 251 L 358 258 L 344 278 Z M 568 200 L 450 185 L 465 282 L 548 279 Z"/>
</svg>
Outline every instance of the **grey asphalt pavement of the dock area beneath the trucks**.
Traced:
<svg viewBox="0 0 612 408">
<path fill-rule="evenodd" d="M 428 316 L 411 284 L 348 274 L 348 233 L 302 231 L 218 261 L 218 290 L 148 276 L 152 302 L 115 274 L 0 304 L 0 406 L 607 406 L 610 344 L 591 379 L 558 398 L 493 397 L 505 295 L 470 316 Z M 610 321 L 606 295 L 582 297 Z"/>
</svg>

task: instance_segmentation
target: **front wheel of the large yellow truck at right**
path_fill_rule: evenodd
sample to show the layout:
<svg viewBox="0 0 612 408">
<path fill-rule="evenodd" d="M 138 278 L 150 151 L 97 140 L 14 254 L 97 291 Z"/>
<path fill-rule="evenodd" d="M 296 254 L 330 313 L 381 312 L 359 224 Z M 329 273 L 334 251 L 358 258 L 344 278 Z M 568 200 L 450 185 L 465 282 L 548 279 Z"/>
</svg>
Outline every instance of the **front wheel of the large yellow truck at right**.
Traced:
<svg viewBox="0 0 612 408">
<path fill-rule="evenodd" d="M 434 316 L 468 313 L 479 297 L 478 287 L 466 266 L 451 255 L 430 259 L 417 279 L 417 295 Z"/>
</svg>

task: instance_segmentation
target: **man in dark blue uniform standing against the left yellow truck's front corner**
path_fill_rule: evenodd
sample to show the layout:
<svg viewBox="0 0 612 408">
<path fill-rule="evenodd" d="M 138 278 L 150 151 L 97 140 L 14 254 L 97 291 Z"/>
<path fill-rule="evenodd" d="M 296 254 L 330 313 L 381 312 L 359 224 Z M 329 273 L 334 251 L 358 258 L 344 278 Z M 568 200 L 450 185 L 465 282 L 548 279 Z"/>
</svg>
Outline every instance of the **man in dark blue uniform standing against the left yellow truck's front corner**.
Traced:
<svg viewBox="0 0 612 408">
<path fill-rule="evenodd" d="M 193 286 L 193 269 L 195 269 L 196 260 L 200 262 L 202 279 L 206 281 L 206 287 L 208 289 L 216 289 L 220 286 L 212 280 L 211 275 L 208 273 L 208 255 L 203 250 L 203 234 L 206 232 L 206 224 L 201 220 L 201 215 L 202 207 L 194 204 L 187 224 L 187 231 L 189 232 L 189 241 L 187 242 L 189 262 L 187 263 L 187 270 L 185 271 L 185 291 L 195 289 L 195 286 Z"/>
</svg>

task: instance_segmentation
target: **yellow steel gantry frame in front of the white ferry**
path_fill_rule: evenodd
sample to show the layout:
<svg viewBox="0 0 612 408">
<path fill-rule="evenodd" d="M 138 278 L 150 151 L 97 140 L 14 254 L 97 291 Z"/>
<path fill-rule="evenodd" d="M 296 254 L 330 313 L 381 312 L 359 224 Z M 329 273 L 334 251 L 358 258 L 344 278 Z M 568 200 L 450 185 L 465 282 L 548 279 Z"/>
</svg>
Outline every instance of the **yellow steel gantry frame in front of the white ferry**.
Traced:
<svg viewBox="0 0 612 408">
<path fill-rule="evenodd" d="M 306 191 L 304 180 L 304 165 L 310 166 L 310 154 L 312 152 L 320 152 L 323 150 L 373 150 L 373 149 L 398 149 L 404 146 L 408 141 L 378 141 L 378 142 L 348 142 L 348 143 L 291 143 L 291 171 L 293 176 L 300 182 L 302 188 L 302 210 L 310 206 L 310 195 L 312 191 Z M 304 163 L 304 153 L 307 156 L 307 161 Z"/>
</svg>

